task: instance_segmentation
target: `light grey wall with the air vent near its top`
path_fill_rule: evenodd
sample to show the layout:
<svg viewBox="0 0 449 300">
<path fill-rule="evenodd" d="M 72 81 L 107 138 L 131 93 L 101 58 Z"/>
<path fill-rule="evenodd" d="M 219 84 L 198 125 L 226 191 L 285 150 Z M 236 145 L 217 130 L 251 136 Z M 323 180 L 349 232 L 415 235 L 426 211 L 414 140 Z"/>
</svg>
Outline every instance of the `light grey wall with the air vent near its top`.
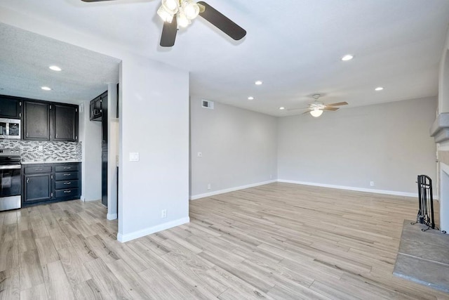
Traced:
<svg viewBox="0 0 449 300">
<path fill-rule="evenodd" d="M 277 178 L 275 117 L 192 98 L 190 119 L 191 199 Z"/>
</svg>

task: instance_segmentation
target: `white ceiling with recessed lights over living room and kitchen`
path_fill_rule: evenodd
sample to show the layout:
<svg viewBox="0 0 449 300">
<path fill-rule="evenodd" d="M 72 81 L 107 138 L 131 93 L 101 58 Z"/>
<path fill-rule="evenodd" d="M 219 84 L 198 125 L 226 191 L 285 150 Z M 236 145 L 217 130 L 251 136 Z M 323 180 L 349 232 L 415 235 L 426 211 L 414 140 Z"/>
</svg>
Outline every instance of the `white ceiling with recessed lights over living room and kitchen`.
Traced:
<svg viewBox="0 0 449 300">
<path fill-rule="evenodd" d="M 189 70 L 191 96 L 269 115 L 301 113 L 278 107 L 307 106 L 314 93 L 322 93 L 324 103 L 347 101 L 349 106 L 359 106 L 438 92 L 448 0 L 206 2 L 245 28 L 246 37 L 233 41 L 198 18 L 178 32 L 173 48 L 161 48 L 159 0 L 46 0 L 45 5 L 2 0 L 0 10 L 4 7 L 72 27 Z M 50 76 L 41 69 L 48 64 L 41 57 L 58 58 L 67 65 L 63 71 L 67 78 L 49 79 L 54 91 L 64 91 L 65 96 L 58 97 L 65 102 L 79 101 L 81 90 L 86 97 L 96 96 L 106 82 L 116 80 L 114 58 L 12 30 L 0 27 L 0 88 L 4 89 L 0 93 L 34 95 L 36 85 L 46 84 Z M 27 38 L 22 39 L 22 34 Z M 53 44 L 62 51 L 52 52 Z M 342 62 L 347 53 L 355 58 Z M 95 71 L 89 69 L 91 65 Z M 18 69 L 17 75 L 11 76 L 12 67 Z M 257 79 L 264 84 L 255 86 Z M 375 92 L 376 86 L 384 86 L 384 91 Z M 247 100 L 248 96 L 255 100 Z M 37 98 L 42 97 L 39 91 Z"/>
</svg>

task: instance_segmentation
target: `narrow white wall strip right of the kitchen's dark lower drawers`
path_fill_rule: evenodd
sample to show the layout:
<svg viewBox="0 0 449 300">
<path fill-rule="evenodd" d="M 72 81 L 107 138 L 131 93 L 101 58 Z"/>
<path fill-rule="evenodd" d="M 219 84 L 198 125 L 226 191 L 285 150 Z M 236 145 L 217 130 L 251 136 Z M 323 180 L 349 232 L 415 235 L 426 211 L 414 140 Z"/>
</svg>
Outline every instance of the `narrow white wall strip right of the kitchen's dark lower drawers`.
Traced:
<svg viewBox="0 0 449 300">
<path fill-rule="evenodd" d="M 79 110 L 79 141 L 82 142 L 81 199 L 101 199 L 101 122 L 89 120 L 89 100 Z"/>
</svg>

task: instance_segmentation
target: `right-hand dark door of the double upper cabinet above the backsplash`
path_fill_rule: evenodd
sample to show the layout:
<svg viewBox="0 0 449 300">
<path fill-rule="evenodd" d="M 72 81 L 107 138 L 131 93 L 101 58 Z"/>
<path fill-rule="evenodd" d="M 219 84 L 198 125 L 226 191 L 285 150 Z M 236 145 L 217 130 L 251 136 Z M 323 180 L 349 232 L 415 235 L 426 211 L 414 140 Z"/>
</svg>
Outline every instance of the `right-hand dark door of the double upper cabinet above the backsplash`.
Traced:
<svg viewBox="0 0 449 300">
<path fill-rule="evenodd" d="M 55 104 L 54 141 L 78 141 L 78 107 Z"/>
</svg>

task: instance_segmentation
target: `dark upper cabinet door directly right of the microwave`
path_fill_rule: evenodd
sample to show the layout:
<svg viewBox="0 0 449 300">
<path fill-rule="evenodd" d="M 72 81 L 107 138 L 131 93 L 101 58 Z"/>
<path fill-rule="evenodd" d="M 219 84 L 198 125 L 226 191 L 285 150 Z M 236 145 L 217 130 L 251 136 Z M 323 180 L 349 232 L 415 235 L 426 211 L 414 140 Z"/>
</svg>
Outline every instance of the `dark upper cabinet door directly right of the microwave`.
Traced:
<svg viewBox="0 0 449 300">
<path fill-rule="evenodd" d="M 24 140 L 50 140 L 50 104 L 25 101 Z"/>
</svg>

